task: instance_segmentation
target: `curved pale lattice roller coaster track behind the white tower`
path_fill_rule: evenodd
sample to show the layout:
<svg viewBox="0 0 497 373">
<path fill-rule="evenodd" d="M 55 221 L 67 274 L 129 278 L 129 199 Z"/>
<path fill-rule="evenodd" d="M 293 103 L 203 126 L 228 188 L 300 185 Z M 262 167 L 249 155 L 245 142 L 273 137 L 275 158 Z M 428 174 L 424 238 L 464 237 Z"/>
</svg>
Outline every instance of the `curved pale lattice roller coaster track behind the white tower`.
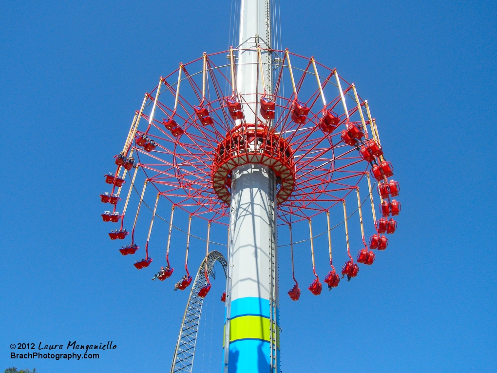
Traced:
<svg viewBox="0 0 497 373">
<path fill-rule="evenodd" d="M 172 359 L 171 373 L 191 373 L 193 369 L 193 358 L 195 357 L 195 343 L 197 341 L 197 330 L 202 313 L 202 303 L 204 298 L 198 296 L 199 290 L 207 284 L 205 279 L 205 261 L 200 265 L 195 281 L 191 287 L 190 297 L 186 305 L 183 316 L 183 323 L 179 331 L 178 343 L 176 351 Z M 224 274 L 226 275 L 227 266 L 226 259 L 219 251 L 211 251 L 207 256 L 207 275 L 210 276 L 214 264 L 218 261 L 223 266 Z"/>
</svg>

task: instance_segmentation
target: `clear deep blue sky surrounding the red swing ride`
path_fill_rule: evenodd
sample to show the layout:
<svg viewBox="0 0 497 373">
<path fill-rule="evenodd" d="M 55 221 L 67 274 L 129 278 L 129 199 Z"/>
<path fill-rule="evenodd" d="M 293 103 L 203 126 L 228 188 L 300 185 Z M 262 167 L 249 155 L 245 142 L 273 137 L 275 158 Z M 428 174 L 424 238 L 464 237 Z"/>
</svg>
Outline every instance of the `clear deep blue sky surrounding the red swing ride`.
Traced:
<svg viewBox="0 0 497 373">
<path fill-rule="evenodd" d="M 169 369 L 187 299 L 172 291 L 180 273 L 154 282 L 154 266 L 122 257 L 98 194 L 143 93 L 179 62 L 229 47 L 230 7 L 2 2 L 1 371 Z M 336 67 L 369 100 L 403 205 L 374 265 L 319 297 L 303 289 L 290 301 L 282 250 L 284 373 L 497 372 L 496 15 L 495 1 L 281 0 L 283 45 Z M 192 267 L 204 250 L 192 243 Z M 304 288 L 309 250 L 296 250 Z M 220 371 L 223 287 L 220 275 L 204 303 L 195 373 Z M 97 361 L 9 359 L 11 343 L 69 340 L 118 347 Z"/>
</svg>

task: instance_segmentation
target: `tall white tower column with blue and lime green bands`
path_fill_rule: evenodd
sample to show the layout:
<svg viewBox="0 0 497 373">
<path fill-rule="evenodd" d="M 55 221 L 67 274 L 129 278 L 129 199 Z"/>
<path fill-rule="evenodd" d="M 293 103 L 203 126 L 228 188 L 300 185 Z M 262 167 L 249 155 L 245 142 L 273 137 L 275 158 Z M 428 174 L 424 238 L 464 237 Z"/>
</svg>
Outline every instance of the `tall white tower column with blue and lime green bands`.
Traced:
<svg viewBox="0 0 497 373">
<path fill-rule="evenodd" d="M 248 124 L 255 123 L 263 93 L 257 46 L 270 48 L 269 12 L 269 0 L 241 0 L 237 93 Z M 271 94 L 270 54 L 261 57 Z M 233 171 L 225 373 L 279 372 L 275 194 L 270 168 L 248 164 Z"/>
</svg>

